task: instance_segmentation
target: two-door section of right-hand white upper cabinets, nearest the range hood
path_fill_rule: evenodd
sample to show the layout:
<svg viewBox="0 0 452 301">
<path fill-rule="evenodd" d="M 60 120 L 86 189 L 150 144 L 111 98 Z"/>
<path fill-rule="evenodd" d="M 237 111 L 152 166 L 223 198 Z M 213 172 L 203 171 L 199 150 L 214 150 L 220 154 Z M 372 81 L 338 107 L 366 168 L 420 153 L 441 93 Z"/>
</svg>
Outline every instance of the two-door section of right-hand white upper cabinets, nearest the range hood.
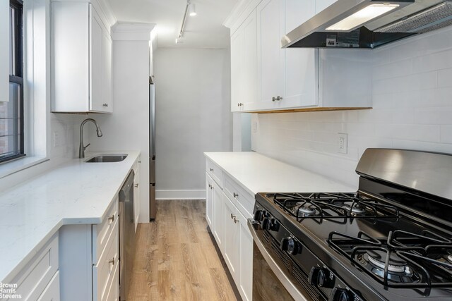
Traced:
<svg viewBox="0 0 452 301">
<path fill-rule="evenodd" d="M 314 16 L 314 0 L 263 0 L 258 5 L 261 109 L 317 104 L 317 51 L 282 49 L 286 32 Z"/>
</svg>

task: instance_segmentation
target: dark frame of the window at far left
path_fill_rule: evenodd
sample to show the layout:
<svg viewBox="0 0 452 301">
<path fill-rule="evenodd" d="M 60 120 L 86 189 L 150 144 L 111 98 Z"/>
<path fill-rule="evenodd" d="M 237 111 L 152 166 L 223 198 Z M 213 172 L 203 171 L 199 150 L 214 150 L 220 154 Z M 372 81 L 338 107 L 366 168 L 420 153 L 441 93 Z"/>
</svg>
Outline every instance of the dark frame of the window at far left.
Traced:
<svg viewBox="0 0 452 301">
<path fill-rule="evenodd" d="M 18 153 L 13 154 L 11 156 L 4 156 L 0 159 L 0 163 L 4 163 L 6 161 L 11 161 L 13 159 L 18 159 L 22 156 L 25 156 L 25 145 L 24 145 L 24 108 L 23 108 L 23 1 L 21 0 L 10 0 L 9 6 L 11 8 L 14 8 L 14 20 L 16 21 L 15 24 L 13 24 L 12 30 L 14 32 L 14 44 L 15 47 L 13 49 L 14 51 L 14 62 L 13 65 L 15 66 L 13 70 L 13 75 L 9 75 L 9 82 L 15 83 L 19 86 L 20 94 L 19 99 L 17 99 L 18 104 L 17 110 L 18 110 L 18 135 L 20 139 L 16 140 L 15 143 L 17 144 Z"/>
</svg>

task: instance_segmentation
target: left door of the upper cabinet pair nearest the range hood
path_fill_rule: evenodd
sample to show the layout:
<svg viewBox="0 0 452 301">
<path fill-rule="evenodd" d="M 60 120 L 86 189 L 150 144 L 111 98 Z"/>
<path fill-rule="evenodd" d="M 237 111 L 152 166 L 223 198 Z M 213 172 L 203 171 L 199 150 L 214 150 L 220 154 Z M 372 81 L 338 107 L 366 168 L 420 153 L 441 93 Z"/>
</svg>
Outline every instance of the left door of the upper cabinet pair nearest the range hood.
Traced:
<svg viewBox="0 0 452 301">
<path fill-rule="evenodd" d="M 284 0 L 263 0 L 257 7 L 259 109 L 278 106 L 273 98 L 284 95 L 285 56 L 280 45 L 284 4 Z"/>
</svg>

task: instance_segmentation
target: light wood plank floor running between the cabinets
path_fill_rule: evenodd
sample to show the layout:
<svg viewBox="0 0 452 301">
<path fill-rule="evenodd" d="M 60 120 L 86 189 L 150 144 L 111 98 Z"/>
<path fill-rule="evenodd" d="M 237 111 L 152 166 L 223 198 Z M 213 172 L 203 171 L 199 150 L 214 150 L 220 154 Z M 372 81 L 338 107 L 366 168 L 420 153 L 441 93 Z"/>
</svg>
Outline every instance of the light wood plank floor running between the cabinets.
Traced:
<svg viewBox="0 0 452 301">
<path fill-rule="evenodd" d="M 223 264 L 204 201 L 157 201 L 155 221 L 138 225 L 127 300 L 237 300 Z"/>
</svg>

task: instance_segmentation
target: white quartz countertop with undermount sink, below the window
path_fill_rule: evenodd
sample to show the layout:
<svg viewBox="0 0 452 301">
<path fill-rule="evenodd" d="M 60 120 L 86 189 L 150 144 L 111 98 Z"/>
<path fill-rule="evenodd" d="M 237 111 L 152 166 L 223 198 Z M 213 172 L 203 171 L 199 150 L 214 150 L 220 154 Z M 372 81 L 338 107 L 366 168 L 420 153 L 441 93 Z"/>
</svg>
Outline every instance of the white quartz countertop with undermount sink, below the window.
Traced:
<svg viewBox="0 0 452 301">
<path fill-rule="evenodd" d="M 108 154 L 113 152 L 97 152 Z M 63 225 L 101 223 L 140 152 L 114 163 L 72 159 L 0 194 L 0 281 L 8 283 Z"/>
</svg>

